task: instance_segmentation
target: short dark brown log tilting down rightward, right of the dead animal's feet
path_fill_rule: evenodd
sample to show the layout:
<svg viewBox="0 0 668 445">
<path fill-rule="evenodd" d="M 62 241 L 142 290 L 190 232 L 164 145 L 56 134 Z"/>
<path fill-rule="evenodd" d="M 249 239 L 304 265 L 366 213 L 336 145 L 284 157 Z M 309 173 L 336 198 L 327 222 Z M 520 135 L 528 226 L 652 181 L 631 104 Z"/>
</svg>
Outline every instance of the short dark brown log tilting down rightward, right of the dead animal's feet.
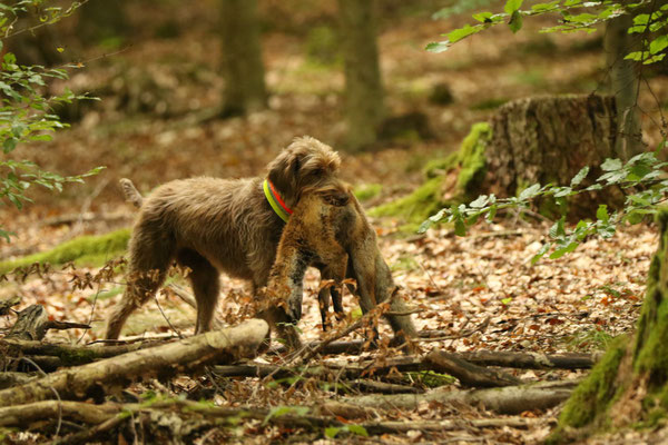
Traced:
<svg viewBox="0 0 668 445">
<path fill-rule="evenodd" d="M 488 369 L 463 360 L 454 354 L 434 349 L 424 357 L 424 365 L 438 373 L 456 377 L 463 386 L 491 388 L 511 386 L 521 383 L 519 378 L 499 369 Z"/>
</svg>

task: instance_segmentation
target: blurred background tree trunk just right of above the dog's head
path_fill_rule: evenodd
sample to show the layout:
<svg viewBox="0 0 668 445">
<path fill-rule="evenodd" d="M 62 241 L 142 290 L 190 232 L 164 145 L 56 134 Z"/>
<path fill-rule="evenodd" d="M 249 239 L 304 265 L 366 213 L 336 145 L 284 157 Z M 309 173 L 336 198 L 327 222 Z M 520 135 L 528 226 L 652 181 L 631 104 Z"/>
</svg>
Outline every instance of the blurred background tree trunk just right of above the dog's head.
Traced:
<svg viewBox="0 0 668 445">
<path fill-rule="evenodd" d="M 375 12 L 375 0 L 338 0 L 351 150 L 375 142 L 384 117 Z"/>
</svg>

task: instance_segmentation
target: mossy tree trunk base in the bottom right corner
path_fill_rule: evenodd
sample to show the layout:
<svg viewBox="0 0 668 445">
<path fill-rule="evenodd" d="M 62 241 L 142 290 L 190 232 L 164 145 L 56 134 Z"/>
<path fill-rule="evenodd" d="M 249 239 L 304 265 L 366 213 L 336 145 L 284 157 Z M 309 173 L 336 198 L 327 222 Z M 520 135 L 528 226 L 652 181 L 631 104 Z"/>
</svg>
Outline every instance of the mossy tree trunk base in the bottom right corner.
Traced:
<svg viewBox="0 0 668 445">
<path fill-rule="evenodd" d="M 655 425 L 668 411 L 668 208 L 659 215 L 660 241 L 647 278 L 637 330 L 617 339 L 573 392 L 551 443 L 605 425 Z M 573 428 L 576 429 L 573 433 Z M 568 432 L 568 433 L 567 433 Z"/>
</svg>

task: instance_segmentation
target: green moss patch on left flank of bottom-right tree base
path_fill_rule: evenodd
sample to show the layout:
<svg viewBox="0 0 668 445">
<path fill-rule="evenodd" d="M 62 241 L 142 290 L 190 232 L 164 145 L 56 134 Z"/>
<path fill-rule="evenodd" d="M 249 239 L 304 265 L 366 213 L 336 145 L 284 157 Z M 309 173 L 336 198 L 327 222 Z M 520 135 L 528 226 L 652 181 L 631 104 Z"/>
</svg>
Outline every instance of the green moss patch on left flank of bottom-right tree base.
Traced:
<svg viewBox="0 0 668 445">
<path fill-rule="evenodd" d="M 625 389 L 617 387 L 615 382 L 627 343 L 627 336 L 620 336 L 612 342 L 603 358 L 578 385 L 566 403 L 559 416 L 558 429 L 581 428 L 591 424 L 597 417 L 603 417 L 615 397 Z"/>
</svg>

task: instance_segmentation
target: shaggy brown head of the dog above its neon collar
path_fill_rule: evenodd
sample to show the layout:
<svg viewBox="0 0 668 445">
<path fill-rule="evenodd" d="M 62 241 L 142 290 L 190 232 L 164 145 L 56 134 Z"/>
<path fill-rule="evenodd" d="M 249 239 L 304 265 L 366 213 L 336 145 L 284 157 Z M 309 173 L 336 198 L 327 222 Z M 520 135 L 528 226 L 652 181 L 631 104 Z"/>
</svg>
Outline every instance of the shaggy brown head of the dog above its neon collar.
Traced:
<svg viewBox="0 0 668 445">
<path fill-rule="evenodd" d="M 269 162 L 267 176 L 286 204 L 293 206 L 302 192 L 335 180 L 340 166 L 341 158 L 332 147 L 303 136 Z"/>
</svg>

